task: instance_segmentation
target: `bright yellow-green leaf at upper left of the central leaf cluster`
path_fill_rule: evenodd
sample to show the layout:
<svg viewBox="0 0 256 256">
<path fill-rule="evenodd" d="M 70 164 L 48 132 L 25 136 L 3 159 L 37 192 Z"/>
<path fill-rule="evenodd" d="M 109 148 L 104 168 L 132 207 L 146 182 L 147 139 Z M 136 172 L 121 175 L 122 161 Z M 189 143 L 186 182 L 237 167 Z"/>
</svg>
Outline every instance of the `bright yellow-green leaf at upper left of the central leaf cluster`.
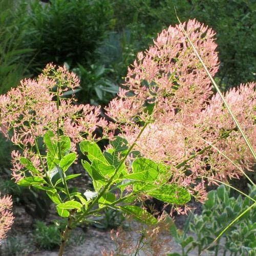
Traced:
<svg viewBox="0 0 256 256">
<path fill-rule="evenodd" d="M 96 159 L 98 161 L 108 164 L 99 146 L 95 142 L 83 140 L 82 142 L 80 142 L 80 150 L 82 154 L 87 155 L 91 162 Z"/>
</svg>

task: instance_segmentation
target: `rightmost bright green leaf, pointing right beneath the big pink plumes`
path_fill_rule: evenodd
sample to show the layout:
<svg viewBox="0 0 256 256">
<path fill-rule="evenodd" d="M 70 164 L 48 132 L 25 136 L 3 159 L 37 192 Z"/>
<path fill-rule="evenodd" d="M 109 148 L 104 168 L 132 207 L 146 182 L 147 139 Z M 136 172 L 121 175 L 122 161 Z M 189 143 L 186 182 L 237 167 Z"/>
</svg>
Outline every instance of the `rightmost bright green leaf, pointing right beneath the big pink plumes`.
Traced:
<svg viewBox="0 0 256 256">
<path fill-rule="evenodd" d="M 146 194 L 170 204 L 185 204 L 190 201 L 188 191 L 175 184 L 162 185 L 159 188 L 146 191 Z"/>
</svg>

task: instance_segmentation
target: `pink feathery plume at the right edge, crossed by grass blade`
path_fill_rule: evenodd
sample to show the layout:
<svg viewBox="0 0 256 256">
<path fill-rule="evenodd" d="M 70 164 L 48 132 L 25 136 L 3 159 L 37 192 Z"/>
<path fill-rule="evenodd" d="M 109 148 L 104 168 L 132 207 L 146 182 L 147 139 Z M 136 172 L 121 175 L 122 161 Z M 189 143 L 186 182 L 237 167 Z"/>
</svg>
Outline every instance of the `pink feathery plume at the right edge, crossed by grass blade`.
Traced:
<svg viewBox="0 0 256 256">
<path fill-rule="evenodd" d="M 238 88 L 230 89 L 225 94 L 225 100 L 245 131 L 252 147 L 255 148 L 256 83 L 240 84 Z M 224 153 L 233 162 L 249 170 L 255 164 L 249 148 L 246 146 L 228 111 L 223 106 L 219 95 L 211 98 L 207 108 L 202 111 L 197 125 L 201 130 L 201 138 L 214 144 L 219 151 Z M 223 139 L 216 140 L 216 138 L 221 136 Z M 215 179 L 225 181 L 227 177 L 239 178 L 239 176 L 243 175 L 215 148 L 211 148 L 210 154 L 206 152 L 201 157 L 207 158 L 208 165 L 210 165 L 213 171 L 212 177 Z M 201 161 L 201 166 L 203 164 L 205 165 L 205 162 Z"/>
</svg>

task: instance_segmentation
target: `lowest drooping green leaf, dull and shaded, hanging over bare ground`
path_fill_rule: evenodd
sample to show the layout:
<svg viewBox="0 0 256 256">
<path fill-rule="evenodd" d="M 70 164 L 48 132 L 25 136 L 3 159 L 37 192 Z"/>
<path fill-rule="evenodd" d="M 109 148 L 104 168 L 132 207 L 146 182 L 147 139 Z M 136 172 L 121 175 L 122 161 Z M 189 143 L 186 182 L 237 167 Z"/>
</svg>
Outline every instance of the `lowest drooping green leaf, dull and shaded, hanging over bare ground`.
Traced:
<svg viewBox="0 0 256 256">
<path fill-rule="evenodd" d="M 126 214 L 132 215 L 134 219 L 145 224 L 156 224 L 157 219 L 146 210 L 141 209 L 135 205 L 119 206 L 119 208 Z"/>
</svg>

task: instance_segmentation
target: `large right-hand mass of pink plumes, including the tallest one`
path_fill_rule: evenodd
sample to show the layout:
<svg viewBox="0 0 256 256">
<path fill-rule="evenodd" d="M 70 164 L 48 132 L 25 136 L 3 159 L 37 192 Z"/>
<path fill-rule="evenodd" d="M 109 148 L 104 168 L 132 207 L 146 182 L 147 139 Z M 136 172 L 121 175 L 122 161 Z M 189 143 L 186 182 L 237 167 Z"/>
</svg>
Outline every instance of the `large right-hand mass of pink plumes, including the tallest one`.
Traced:
<svg viewBox="0 0 256 256">
<path fill-rule="evenodd" d="M 143 157 L 170 167 L 170 182 L 187 187 L 199 201 L 205 201 L 205 184 L 212 178 L 225 181 L 239 178 L 232 161 L 249 168 L 250 152 L 221 98 L 213 95 L 210 80 L 182 32 L 188 36 L 211 75 L 218 70 L 215 33 L 196 22 L 170 26 L 154 46 L 138 53 L 129 68 L 118 98 L 106 113 L 130 143 L 148 122 L 136 148 Z M 255 146 L 255 83 L 241 85 L 225 98 Z M 254 107 L 253 107 L 254 106 Z M 208 182 L 200 179 L 208 178 Z M 201 181 L 200 181 L 201 180 Z"/>
</svg>

